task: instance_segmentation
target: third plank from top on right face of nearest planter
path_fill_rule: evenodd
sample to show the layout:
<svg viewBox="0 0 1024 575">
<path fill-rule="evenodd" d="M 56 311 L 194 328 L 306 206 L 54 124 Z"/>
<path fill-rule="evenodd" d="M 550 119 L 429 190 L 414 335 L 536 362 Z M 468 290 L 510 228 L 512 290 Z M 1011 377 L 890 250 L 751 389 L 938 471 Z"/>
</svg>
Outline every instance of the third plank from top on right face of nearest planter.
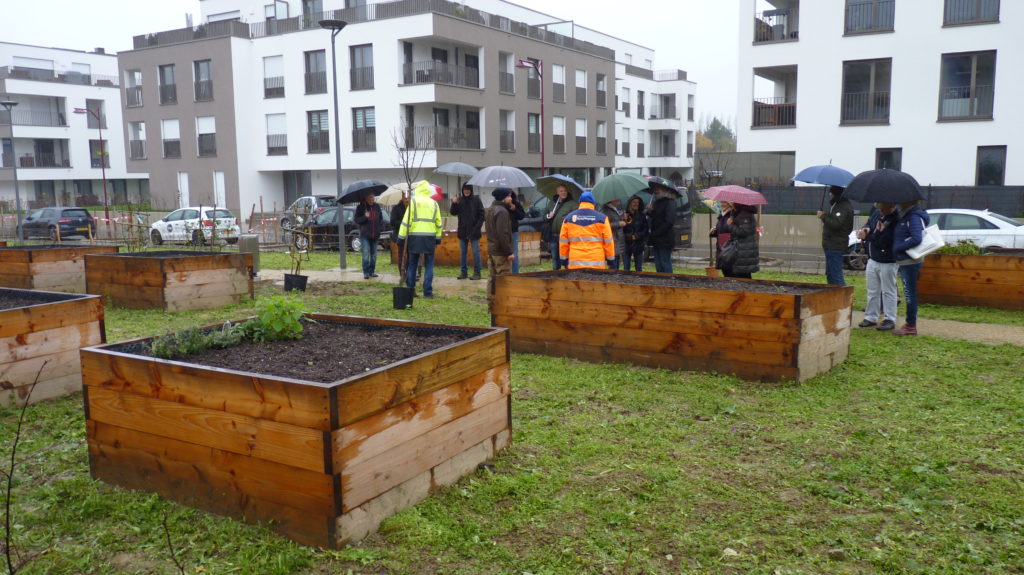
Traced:
<svg viewBox="0 0 1024 575">
<path fill-rule="evenodd" d="M 341 474 L 342 511 L 350 512 L 508 429 L 508 397 L 502 397 L 376 457 L 347 468 Z"/>
</svg>

